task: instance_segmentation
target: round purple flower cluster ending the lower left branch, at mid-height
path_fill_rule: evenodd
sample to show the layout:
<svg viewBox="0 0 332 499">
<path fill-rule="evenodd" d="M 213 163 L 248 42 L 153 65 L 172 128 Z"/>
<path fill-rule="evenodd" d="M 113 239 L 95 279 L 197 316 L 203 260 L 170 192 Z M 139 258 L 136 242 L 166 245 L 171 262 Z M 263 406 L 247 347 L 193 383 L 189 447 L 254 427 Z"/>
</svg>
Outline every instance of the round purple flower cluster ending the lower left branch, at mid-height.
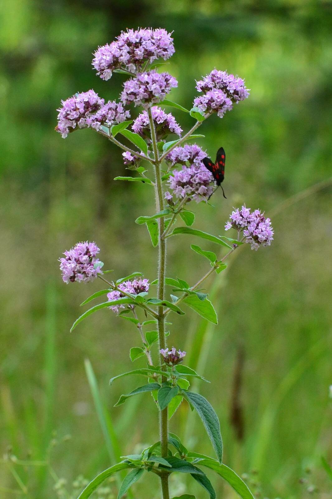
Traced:
<svg viewBox="0 0 332 499">
<path fill-rule="evenodd" d="M 65 257 L 59 258 L 63 282 L 89 282 L 102 274 L 103 263 L 96 258 L 99 251 L 95 243 L 87 241 L 65 251 Z"/>
</svg>

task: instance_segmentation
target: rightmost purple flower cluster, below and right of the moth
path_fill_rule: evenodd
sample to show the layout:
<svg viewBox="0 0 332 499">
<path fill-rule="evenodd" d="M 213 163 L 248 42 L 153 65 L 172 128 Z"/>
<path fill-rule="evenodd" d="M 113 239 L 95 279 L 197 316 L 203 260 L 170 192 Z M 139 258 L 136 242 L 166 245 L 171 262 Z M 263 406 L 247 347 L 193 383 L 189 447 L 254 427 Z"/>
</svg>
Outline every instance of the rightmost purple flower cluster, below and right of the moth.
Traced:
<svg viewBox="0 0 332 499">
<path fill-rule="evenodd" d="M 258 250 L 262 246 L 270 246 L 273 241 L 274 231 L 269 218 L 264 217 L 264 213 L 255 210 L 251 213 L 250 208 L 242 206 L 232 212 L 230 221 L 225 225 L 225 230 L 236 229 L 243 231 L 245 242 L 251 245 L 252 250 Z"/>
</svg>

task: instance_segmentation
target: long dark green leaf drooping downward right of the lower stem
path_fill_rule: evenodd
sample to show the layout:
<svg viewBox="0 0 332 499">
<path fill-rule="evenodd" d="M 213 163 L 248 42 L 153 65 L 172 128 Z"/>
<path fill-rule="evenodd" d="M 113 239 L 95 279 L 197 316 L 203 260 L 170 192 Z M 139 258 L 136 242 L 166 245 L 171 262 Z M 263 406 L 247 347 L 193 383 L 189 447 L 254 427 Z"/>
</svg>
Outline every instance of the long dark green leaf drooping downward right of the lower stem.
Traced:
<svg viewBox="0 0 332 499">
<path fill-rule="evenodd" d="M 211 440 L 213 449 L 219 462 L 222 461 L 222 440 L 220 435 L 220 423 L 211 404 L 199 393 L 183 392 L 183 396 L 196 409 L 203 422 L 205 430 Z"/>
</svg>

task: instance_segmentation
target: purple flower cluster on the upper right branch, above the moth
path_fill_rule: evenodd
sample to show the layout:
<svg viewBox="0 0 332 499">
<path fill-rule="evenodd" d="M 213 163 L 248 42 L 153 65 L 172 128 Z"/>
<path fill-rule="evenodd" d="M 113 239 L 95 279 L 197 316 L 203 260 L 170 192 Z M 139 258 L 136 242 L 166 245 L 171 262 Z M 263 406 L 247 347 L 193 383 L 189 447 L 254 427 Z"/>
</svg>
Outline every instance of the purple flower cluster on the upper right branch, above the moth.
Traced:
<svg viewBox="0 0 332 499">
<path fill-rule="evenodd" d="M 203 95 L 194 99 L 194 106 L 204 114 L 216 112 L 219 118 L 232 109 L 234 102 L 249 97 L 249 90 L 242 78 L 217 69 L 197 81 L 196 88 Z"/>
</svg>

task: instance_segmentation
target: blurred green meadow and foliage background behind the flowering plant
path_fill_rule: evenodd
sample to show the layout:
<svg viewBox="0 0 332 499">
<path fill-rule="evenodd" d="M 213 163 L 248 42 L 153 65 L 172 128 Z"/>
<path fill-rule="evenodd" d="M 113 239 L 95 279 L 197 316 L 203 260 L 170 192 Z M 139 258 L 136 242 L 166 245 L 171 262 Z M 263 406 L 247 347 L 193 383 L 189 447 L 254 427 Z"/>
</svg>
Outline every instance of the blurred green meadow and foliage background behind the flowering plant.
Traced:
<svg viewBox="0 0 332 499">
<path fill-rule="evenodd" d="M 96 77 L 91 53 L 137 26 L 174 30 L 176 53 L 166 66 L 179 82 L 172 100 L 190 108 L 195 79 L 214 67 L 239 74 L 251 89 L 223 120 L 213 116 L 200 128 L 206 139 L 198 143 L 212 157 L 220 145 L 226 150 L 227 200 L 218 191 L 214 208 L 192 207 L 196 227 L 222 234 L 232 207 L 245 202 L 266 210 L 275 228 L 270 248 L 241 248 L 227 271 L 207 283 L 218 326 L 187 309 L 184 318 L 172 317 L 170 343 L 212 381 L 194 389 L 218 413 L 225 464 L 248 475 L 257 497 L 306 498 L 312 485 L 319 497 L 331 497 L 321 456 L 331 464 L 332 3 L 2 0 L 0 9 L 0 451 L 49 459 L 52 467 L 1 459 L 0 497 L 69 497 L 60 496 L 58 478 L 75 496 L 78 475 L 92 479 L 112 463 L 84 359 L 120 454 L 158 440 L 151 397 L 113 408 L 141 380 L 108 386 L 111 376 L 132 368 L 129 348 L 140 344 L 134 327 L 103 310 L 70 334 L 79 304 L 102 286 L 65 286 L 57 262 L 77 241 L 94 240 L 114 277 L 136 270 L 156 277 L 157 250 L 134 223 L 154 213 L 150 187 L 114 182 L 129 173 L 121 152 L 92 130 L 66 140 L 54 132 L 61 98 L 90 88 L 105 99 L 118 96 L 124 76 Z M 193 124 L 181 111 L 173 114 L 185 130 Z M 193 284 L 207 267 L 191 242 L 169 240 L 167 275 Z M 235 409 L 242 417 L 236 424 Z M 189 412 L 183 404 L 171 431 L 212 455 Z M 206 497 L 175 475 L 173 495 Z M 210 478 L 217 497 L 234 497 Z M 159 497 L 157 478 L 150 480 L 136 486 L 135 498 Z M 96 497 L 113 497 L 102 493 Z"/>
</svg>

